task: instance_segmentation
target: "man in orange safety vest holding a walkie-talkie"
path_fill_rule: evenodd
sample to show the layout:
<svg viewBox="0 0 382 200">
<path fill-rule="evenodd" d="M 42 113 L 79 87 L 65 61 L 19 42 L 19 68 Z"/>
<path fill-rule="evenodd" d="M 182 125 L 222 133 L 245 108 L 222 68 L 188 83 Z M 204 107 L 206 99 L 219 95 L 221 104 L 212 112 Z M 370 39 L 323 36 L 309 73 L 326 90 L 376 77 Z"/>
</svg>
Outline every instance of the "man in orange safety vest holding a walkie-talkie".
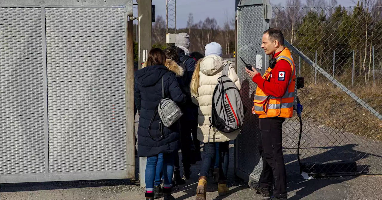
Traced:
<svg viewBox="0 0 382 200">
<path fill-rule="evenodd" d="M 295 63 L 288 48 L 284 47 L 284 36 L 277 28 L 264 32 L 261 48 L 272 55 L 269 67 L 263 76 L 252 67 L 246 73 L 257 84 L 252 112 L 259 116 L 261 138 L 259 153 L 263 169 L 259 182 L 251 187 L 272 200 L 286 200 L 286 172 L 282 151 L 282 124 L 293 116 L 295 97 Z M 273 196 L 270 193 L 275 179 Z"/>
</svg>

